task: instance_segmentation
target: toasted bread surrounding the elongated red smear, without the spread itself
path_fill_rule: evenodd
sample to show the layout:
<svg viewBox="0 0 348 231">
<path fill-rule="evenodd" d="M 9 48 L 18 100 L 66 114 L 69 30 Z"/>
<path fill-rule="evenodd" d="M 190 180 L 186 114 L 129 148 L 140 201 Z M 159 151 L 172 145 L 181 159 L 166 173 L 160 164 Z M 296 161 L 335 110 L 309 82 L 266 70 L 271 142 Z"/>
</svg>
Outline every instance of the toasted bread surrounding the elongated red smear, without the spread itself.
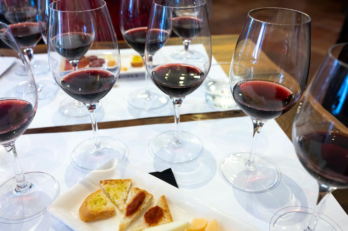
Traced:
<svg viewBox="0 0 348 231">
<path fill-rule="evenodd" d="M 140 204 L 140 206 L 137 208 L 137 210 L 133 214 L 127 216 L 126 215 L 126 213 L 127 213 L 127 206 L 131 202 L 133 202 L 133 198 L 135 196 L 137 196 L 141 192 L 145 193 L 145 198 L 144 198 L 143 202 Z M 127 227 L 129 226 L 129 224 L 132 223 L 135 219 L 137 219 L 142 212 L 144 212 L 150 205 L 152 205 L 152 203 L 153 203 L 153 196 L 152 196 L 152 194 L 150 194 L 147 191 L 145 191 L 143 189 L 140 189 L 140 188 L 132 188 L 132 189 L 130 189 L 129 195 L 128 195 L 128 198 L 127 198 L 127 202 L 126 202 L 126 205 L 125 205 L 125 208 L 124 208 L 125 215 L 123 217 L 123 220 L 120 222 L 118 231 L 126 230 Z"/>
</svg>

